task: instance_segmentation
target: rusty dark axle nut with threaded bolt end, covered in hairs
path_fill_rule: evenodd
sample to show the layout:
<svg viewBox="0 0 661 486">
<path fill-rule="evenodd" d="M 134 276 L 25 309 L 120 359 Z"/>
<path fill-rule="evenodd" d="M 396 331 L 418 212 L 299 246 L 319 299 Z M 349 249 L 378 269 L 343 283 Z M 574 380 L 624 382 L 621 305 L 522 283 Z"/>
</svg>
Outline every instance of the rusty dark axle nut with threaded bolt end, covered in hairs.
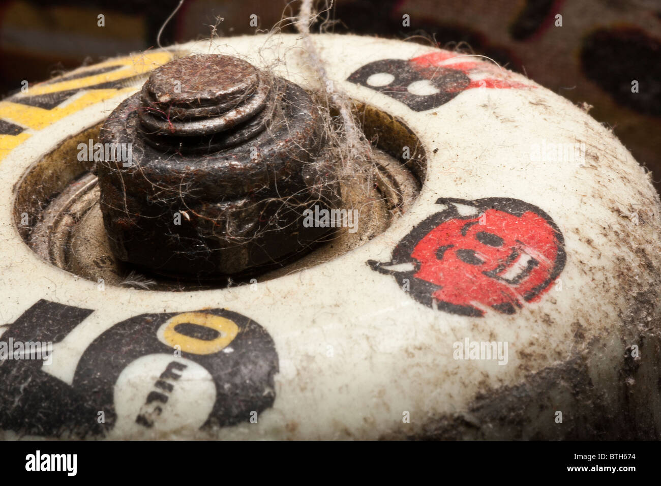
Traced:
<svg viewBox="0 0 661 486">
<path fill-rule="evenodd" d="M 132 144 L 129 167 L 95 169 L 122 261 L 173 276 L 252 274 L 329 232 L 303 226 L 305 209 L 340 198 L 321 117 L 299 86 L 246 61 L 196 55 L 155 69 L 100 137 Z"/>
</svg>

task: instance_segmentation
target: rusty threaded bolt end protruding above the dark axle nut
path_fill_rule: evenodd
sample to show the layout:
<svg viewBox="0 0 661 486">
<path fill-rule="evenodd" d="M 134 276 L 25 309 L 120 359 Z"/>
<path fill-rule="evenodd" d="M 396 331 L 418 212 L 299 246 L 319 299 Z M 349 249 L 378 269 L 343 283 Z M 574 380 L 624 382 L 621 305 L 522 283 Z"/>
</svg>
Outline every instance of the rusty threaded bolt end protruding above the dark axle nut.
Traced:
<svg viewBox="0 0 661 486">
<path fill-rule="evenodd" d="M 143 135 L 151 145 L 184 151 L 236 145 L 266 128 L 274 91 L 265 73 L 241 59 L 180 58 L 155 69 L 143 85 Z"/>
</svg>

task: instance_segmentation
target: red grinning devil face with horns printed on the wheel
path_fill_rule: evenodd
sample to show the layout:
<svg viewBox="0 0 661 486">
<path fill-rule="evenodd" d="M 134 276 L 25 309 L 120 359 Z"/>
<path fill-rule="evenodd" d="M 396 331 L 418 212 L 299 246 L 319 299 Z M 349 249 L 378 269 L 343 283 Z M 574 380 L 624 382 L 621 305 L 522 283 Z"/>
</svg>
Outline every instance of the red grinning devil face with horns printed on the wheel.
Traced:
<svg viewBox="0 0 661 486">
<path fill-rule="evenodd" d="M 391 261 L 368 264 L 422 304 L 481 317 L 513 314 L 549 290 L 566 261 L 563 235 L 537 206 L 518 199 L 441 198 L 445 210 L 418 224 Z"/>
</svg>

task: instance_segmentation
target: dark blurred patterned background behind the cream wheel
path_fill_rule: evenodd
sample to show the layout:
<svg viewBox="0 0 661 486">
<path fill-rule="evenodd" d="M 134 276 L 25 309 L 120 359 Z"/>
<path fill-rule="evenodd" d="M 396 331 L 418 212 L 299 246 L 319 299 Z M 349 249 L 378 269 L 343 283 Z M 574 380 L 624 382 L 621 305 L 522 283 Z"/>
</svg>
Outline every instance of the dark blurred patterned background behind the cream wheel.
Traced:
<svg viewBox="0 0 661 486">
<path fill-rule="evenodd" d="M 177 4 L 3 1 L 0 97 L 19 90 L 23 80 L 43 81 L 156 46 L 157 33 Z M 297 1 L 185 0 L 163 30 L 161 44 L 208 38 L 212 31 L 217 36 L 263 32 L 297 11 Z M 410 39 L 489 56 L 574 103 L 592 105 L 590 114 L 614 130 L 661 190 L 661 0 L 336 0 L 326 16 L 334 21 L 325 26 L 331 32 Z M 283 30 L 294 32 L 290 22 Z"/>
</svg>

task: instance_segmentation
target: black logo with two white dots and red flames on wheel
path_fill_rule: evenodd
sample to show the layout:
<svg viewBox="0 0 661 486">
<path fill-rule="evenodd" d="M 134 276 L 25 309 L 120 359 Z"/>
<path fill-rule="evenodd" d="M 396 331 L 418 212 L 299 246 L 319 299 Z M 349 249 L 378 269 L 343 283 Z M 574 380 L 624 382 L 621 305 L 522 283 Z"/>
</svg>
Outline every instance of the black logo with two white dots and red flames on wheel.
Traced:
<svg viewBox="0 0 661 486">
<path fill-rule="evenodd" d="M 473 88 L 529 88 L 531 85 L 498 79 L 492 63 L 447 51 L 436 51 L 410 60 L 383 59 L 356 69 L 348 81 L 403 102 L 414 111 L 447 103 Z M 458 61 L 461 58 L 463 61 Z M 473 79 L 479 77 L 479 79 Z"/>
</svg>

